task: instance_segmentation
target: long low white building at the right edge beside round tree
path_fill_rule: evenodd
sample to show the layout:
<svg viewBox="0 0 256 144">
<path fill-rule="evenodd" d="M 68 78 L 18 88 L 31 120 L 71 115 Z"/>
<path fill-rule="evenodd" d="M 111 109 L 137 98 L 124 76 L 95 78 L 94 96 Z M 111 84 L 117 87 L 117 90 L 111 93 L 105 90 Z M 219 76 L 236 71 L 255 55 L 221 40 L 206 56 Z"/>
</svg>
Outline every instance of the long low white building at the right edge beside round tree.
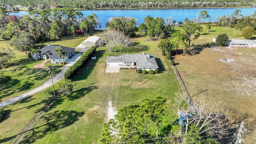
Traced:
<svg viewBox="0 0 256 144">
<path fill-rule="evenodd" d="M 256 41 L 255 40 L 248 40 L 248 39 L 231 39 L 229 40 L 230 47 L 246 47 L 246 48 L 256 48 Z"/>
</svg>

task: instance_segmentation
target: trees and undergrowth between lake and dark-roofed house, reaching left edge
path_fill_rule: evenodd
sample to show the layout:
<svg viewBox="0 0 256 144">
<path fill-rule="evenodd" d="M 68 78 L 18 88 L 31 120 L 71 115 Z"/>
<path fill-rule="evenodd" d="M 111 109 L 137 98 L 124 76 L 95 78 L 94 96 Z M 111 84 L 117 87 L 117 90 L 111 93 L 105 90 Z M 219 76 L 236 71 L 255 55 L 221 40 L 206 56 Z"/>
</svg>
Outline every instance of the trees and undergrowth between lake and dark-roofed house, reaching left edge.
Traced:
<svg viewBox="0 0 256 144">
<path fill-rule="evenodd" d="M 101 21 L 96 14 L 83 16 L 72 8 L 54 8 L 31 11 L 22 17 L 8 15 L 5 8 L 0 7 L 0 38 L 6 40 L 18 51 L 36 53 L 36 43 L 57 40 L 63 36 L 74 36 L 76 30 L 84 30 L 92 34 L 101 28 Z M 7 42 L 7 40 L 9 40 Z M 1 49 L 0 68 L 12 58 L 11 50 Z M 29 54 L 27 60 L 31 60 Z"/>
</svg>

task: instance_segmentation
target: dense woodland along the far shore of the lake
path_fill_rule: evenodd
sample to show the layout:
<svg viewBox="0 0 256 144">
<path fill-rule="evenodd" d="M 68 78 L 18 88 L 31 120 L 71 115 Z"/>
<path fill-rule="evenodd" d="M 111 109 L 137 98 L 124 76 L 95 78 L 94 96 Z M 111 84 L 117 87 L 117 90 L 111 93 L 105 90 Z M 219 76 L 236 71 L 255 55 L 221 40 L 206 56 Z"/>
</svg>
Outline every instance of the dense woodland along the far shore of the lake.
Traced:
<svg viewBox="0 0 256 144">
<path fill-rule="evenodd" d="M 202 8 L 256 6 L 254 0 L 0 0 L 0 6 L 12 10 L 16 5 L 32 8 Z"/>
</svg>

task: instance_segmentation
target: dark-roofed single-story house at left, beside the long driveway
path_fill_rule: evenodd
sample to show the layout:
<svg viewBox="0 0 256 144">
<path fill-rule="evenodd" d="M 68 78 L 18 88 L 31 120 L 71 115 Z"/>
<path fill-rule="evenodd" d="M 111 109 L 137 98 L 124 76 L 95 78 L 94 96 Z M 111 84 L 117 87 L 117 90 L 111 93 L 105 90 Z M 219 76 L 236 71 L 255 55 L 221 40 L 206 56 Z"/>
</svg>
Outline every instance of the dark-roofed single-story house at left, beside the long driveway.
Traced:
<svg viewBox="0 0 256 144">
<path fill-rule="evenodd" d="M 38 59 L 48 59 L 50 58 L 51 63 L 60 63 L 63 62 L 63 58 L 62 56 L 60 56 L 59 59 L 59 55 L 58 52 L 54 52 L 54 50 L 56 50 L 56 48 L 59 47 L 61 50 L 64 50 L 66 52 L 65 56 L 64 56 L 64 61 L 68 60 L 69 58 L 72 58 L 72 56 L 74 56 L 75 53 L 75 48 L 68 48 L 65 46 L 50 46 L 48 44 L 48 46 L 45 46 L 43 48 L 40 48 L 39 50 L 39 54 L 37 55 Z M 36 56 L 33 55 L 33 58 L 36 59 Z"/>
</svg>

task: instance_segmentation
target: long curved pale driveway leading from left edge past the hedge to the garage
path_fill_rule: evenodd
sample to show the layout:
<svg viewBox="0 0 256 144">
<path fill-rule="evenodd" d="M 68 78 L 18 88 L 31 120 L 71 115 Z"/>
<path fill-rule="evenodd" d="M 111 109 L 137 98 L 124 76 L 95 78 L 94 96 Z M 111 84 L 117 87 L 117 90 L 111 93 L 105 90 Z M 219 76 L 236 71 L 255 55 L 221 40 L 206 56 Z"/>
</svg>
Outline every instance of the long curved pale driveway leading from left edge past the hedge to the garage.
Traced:
<svg viewBox="0 0 256 144">
<path fill-rule="evenodd" d="M 59 82 L 62 78 L 64 78 L 64 73 L 66 72 L 66 70 L 72 66 L 76 60 L 78 60 L 80 58 L 80 56 L 86 52 L 86 50 L 88 50 L 89 48 L 76 48 L 76 49 L 80 49 L 81 51 L 78 52 L 75 56 L 73 56 L 72 58 L 70 58 L 69 60 L 67 60 L 67 64 L 64 68 L 62 68 L 60 70 L 60 72 L 58 72 L 56 75 L 52 76 L 52 81 L 54 84 L 56 84 L 57 82 Z M 51 79 L 46 80 L 41 86 L 38 86 L 37 88 L 34 88 L 33 90 L 30 90 L 28 92 L 26 92 L 25 94 L 22 94 L 20 96 L 16 96 L 15 98 L 12 98 L 10 100 L 7 100 L 6 102 L 2 102 L 0 103 L 0 108 L 7 106 L 9 104 L 12 104 L 14 102 L 17 102 L 19 100 L 22 100 L 23 98 L 26 98 L 28 96 L 31 96 L 33 94 L 36 94 L 42 90 L 45 90 L 46 88 L 52 86 L 52 81 Z"/>
</svg>

